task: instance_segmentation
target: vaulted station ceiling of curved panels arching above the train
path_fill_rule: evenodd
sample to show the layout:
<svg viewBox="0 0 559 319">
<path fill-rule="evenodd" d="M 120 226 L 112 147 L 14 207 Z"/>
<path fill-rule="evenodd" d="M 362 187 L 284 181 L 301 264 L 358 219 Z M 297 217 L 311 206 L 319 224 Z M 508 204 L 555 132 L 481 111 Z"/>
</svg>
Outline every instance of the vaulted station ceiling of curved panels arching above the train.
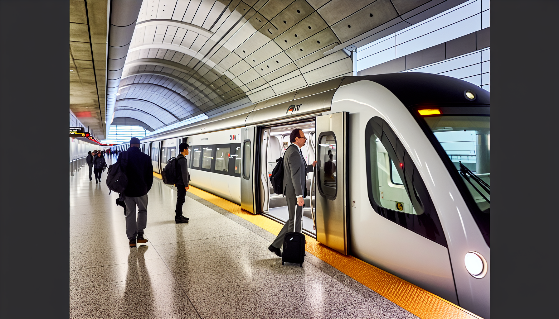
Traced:
<svg viewBox="0 0 559 319">
<path fill-rule="evenodd" d="M 464 1 L 113 0 L 107 128 L 124 117 L 157 130 L 352 75 L 355 45 Z M 134 22 L 116 20 L 134 6 L 127 42 Z"/>
</svg>

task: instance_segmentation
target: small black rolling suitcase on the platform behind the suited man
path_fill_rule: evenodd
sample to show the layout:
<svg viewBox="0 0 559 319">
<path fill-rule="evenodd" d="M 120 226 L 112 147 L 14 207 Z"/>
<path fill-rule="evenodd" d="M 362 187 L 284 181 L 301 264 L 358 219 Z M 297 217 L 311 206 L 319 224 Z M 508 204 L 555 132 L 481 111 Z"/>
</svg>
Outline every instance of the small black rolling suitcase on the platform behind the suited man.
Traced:
<svg viewBox="0 0 559 319">
<path fill-rule="evenodd" d="M 293 231 L 285 234 L 283 239 L 283 251 L 281 254 L 281 264 L 293 263 L 303 266 L 305 261 L 305 235 L 301 234 L 303 229 L 303 206 L 297 205 L 295 208 L 295 222 Z M 299 231 L 297 231 L 299 230 Z"/>
</svg>

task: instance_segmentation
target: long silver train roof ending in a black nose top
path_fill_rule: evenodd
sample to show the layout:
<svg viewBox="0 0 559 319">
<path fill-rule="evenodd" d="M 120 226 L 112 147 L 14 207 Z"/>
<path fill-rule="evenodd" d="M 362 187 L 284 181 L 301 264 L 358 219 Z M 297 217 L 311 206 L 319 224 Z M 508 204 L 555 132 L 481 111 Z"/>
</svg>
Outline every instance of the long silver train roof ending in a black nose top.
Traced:
<svg viewBox="0 0 559 319">
<path fill-rule="evenodd" d="M 208 118 L 206 120 L 177 127 L 173 130 L 148 135 L 142 142 L 171 139 L 178 136 L 195 135 L 202 132 L 227 130 L 230 128 L 255 125 L 281 120 L 296 120 L 330 109 L 335 91 L 344 85 L 368 80 L 389 89 L 404 106 L 410 108 L 423 104 L 461 106 L 489 106 L 489 92 L 465 80 L 445 75 L 405 72 L 358 77 L 340 77 L 311 85 L 294 92 L 267 99 L 233 112 Z M 475 99 L 469 101 L 465 92 L 475 93 Z M 290 107 L 297 111 L 290 112 Z"/>
</svg>

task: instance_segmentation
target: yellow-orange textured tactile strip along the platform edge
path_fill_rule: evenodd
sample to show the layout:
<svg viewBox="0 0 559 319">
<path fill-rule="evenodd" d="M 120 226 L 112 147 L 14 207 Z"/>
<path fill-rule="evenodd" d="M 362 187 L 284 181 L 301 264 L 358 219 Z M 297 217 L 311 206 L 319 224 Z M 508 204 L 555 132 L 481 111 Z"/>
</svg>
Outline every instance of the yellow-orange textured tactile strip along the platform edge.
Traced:
<svg viewBox="0 0 559 319">
<path fill-rule="evenodd" d="M 154 175 L 157 176 L 159 174 L 154 173 Z M 159 175 L 159 178 L 160 176 L 161 175 Z M 215 204 L 216 206 L 223 208 L 226 211 L 234 213 L 235 215 L 252 222 L 254 225 L 257 225 L 274 235 L 279 234 L 281 228 L 283 227 L 283 225 L 276 221 L 262 215 L 253 215 L 252 213 L 242 210 L 240 206 L 235 203 L 231 203 L 196 187 L 190 186 L 188 191 L 212 204 Z M 326 263 L 340 270 L 340 272 L 357 280 L 359 283 L 362 283 L 366 287 L 381 294 L 381 296 L 389 299 L 419 318 L 482 319 L 470 311 L 453 304 L 452 302 L 435 296 L 434 294 L 425 291 L 414 284 L 406 282 L 395 275 L 387 273 L 371 264 L 365 263 L 353 256 L 342 255 L 337 251 L 320 244 L 320 242 L 317 242 L 312 237 L 306 236 L 306 239 L 306 251 L 321 260 L 324 260 Z"/>
</svg>

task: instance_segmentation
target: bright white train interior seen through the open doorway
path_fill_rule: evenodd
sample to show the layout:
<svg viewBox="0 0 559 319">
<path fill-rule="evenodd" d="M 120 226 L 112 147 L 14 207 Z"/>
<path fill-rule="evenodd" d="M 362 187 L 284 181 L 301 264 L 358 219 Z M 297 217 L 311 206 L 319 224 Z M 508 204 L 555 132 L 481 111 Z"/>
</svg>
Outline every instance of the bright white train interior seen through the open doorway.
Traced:
<svg viewBox="0 0 559 319">
<path fill-rule="evenodd" d="M 277 160 L 283 157 L 285 150 L 291 144 L 289 137 L 294 128 L 301 128 L 307 137 L 305 146 L 301 148 L 301 152 L 308 164 L 312 164 L 315 160 L 316 149 L 316 130 L 315 121 L 296 123 L 290 125 L 273 126 L 263 128 L 260 134 L 262 142 L 263 163 L 261 165 L 262 173 L 260 176 L 260 213 L 271 217 L 274 220 L 286 222 L 289 219 L 286 198 L 282 194 L 274 193 L 269 177 L 272 175 Z M 264 165 L 264 162 L 266 165 Z M 303 231 L 309 235 L 316 236 L 314 222 L 311 212 L 311 197 L 314 201 L 314 192 L 311 192 L 311 180 L 313 172 L 309 172 L 306 177 L 307 197 L 305 198 L 305 207 L 303 209 Z M 314 206 L 313 206 L 314 207 Z"/>
</svg>

